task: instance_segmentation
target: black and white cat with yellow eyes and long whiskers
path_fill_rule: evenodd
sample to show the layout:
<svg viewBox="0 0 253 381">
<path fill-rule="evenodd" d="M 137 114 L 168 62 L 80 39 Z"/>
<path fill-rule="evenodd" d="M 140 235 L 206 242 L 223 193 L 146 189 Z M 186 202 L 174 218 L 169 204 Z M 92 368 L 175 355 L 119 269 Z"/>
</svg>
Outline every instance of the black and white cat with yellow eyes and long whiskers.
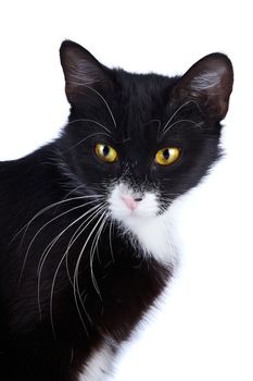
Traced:
<svg viewBox="0 0 253 381">
<path fill-rule="evenodd" d="M 220 157 L 233 70 L 107 69 L 60 49 L 61 135 L 0 163 L 0 380 L 104 380 L 173 276 L 170 206 Z"/>
</svg>

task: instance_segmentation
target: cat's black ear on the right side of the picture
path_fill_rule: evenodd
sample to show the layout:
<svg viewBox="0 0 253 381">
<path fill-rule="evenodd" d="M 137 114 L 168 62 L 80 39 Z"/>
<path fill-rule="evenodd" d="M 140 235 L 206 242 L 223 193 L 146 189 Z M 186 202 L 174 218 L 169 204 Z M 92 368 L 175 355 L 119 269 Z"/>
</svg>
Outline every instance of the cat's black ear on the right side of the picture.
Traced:
<svg viewBox="0 0 253 381">
<path fill-rule="evenodd" d="M 212 119 L 220 121 L 228 111 L 232 91 L 231 61 L 223 53 L 212 53 L 198 61 L 179 79 L 174 97 L 180 101 L 193 100 Z"/>
</svg>

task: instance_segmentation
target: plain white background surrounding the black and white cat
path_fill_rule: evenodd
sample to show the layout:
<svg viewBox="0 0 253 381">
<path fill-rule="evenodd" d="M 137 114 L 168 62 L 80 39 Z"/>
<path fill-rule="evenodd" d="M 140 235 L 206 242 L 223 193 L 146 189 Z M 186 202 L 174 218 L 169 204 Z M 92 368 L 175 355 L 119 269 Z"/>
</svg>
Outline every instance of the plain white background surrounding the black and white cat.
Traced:
<svg viewBox="0 0 253 381">
<path fill-rule="evenodd" d="M 213 51 L 233 62 L 227 157 L 175 208 L 179 271 L 123 352 L 116 381 L 253 380 L 251 25 L 243 0 L 1 2 L 0 160 L 28 153 L 66 121 L 65 38 L 137 72 L 181 74 Z"/>
</svg>

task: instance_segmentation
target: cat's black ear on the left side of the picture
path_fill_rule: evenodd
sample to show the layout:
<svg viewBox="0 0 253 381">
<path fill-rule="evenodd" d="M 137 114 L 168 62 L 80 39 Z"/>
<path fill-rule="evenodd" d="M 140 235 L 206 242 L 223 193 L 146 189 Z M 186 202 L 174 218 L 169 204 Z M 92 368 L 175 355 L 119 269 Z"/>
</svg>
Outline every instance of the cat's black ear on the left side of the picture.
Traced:
<svg viewBox="0 0 253 381">
<path fill-rule="evenodd" d="M 65 40 L 60 48 L 61 64 L 65 76 L 65 91 L 69 103 L 87 89 L 109 82 L 106 67 L 80 45 Z"/>
</svg>

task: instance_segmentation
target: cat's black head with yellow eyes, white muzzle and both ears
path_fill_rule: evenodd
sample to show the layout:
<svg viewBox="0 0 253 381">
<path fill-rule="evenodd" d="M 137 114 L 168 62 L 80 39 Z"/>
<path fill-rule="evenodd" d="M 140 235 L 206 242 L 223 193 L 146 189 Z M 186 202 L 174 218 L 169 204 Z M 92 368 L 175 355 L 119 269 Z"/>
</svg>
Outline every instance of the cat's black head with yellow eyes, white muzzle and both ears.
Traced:
<svg viewBox="0 0 253 381">
<path fill-rule="evenodd" d="M 118 222 L 163 216 L 218 158 L 233 79 L 226 56 L 172 78 L 107 69 L 72 41 L 61 62 L 71 103 L 64 158 L 77 186 L 104 195 Z"/>
</svg>

